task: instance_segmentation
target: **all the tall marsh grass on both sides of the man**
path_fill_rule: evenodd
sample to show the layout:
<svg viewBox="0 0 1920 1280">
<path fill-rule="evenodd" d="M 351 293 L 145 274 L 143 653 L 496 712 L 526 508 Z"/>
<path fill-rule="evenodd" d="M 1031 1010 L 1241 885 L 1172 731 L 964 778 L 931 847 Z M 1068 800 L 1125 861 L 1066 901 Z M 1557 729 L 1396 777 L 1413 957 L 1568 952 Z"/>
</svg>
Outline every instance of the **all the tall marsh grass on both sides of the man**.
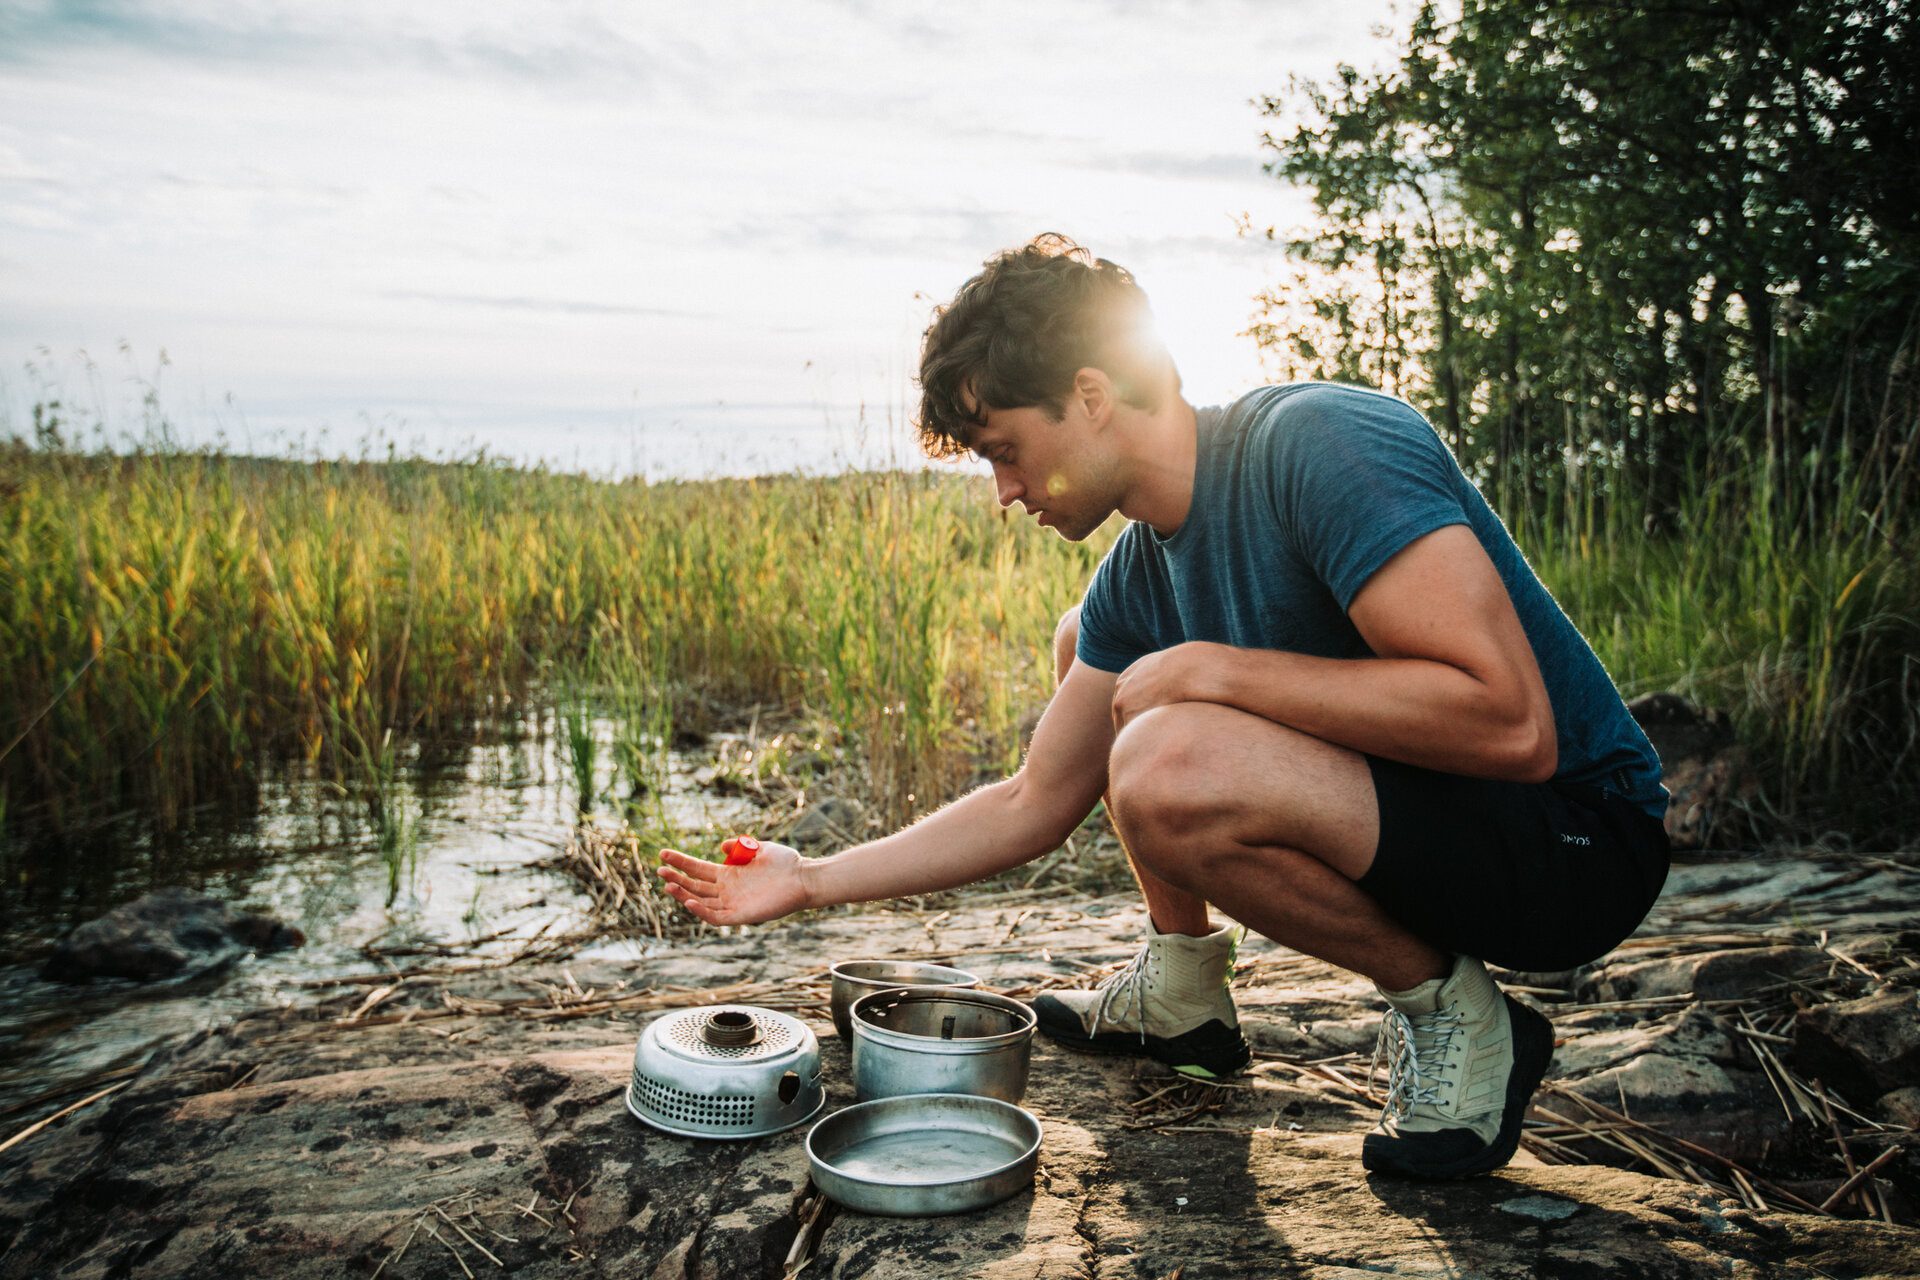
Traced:
<svg viewBox="0 0 1920 1280">
<path fill-rule="evenodd" d="M 1645 535 L 1599 468 L 1515 532 L 1628 695 L 1734 716 L 1789 825 L 1910 833 L 1899 512 L 1855 491 L 1809 520 L 1774 466 L 1693 480 L 1674 533 Z M 639 825 L 664 821 L 676 725 L 749 704 L 808 743 L 795 768 L 906 821 L 1018 764 L 1052 626 L 1114 532 L 1069 545 L 979 482 L 904 472 L 641 484 L 15 443 L 0 491 L 0 814 L 54 835 L 125 810 L 177 827 L 284 766 L 388 796 L 378 829 L 392 747 L 528 702 L 584 806 L 607 752 Z"/>
</svg>

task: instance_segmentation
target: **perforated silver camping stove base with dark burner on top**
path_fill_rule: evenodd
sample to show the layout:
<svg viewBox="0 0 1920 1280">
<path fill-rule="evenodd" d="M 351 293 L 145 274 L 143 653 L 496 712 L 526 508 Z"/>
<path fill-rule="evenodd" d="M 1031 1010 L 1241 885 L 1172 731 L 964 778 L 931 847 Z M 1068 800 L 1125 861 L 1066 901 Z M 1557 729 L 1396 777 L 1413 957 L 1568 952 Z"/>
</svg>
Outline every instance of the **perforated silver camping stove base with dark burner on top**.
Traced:
<svg viewBox="0 0 1920 1280">
<path fill-rule="evenodd" d="M 820 1042 L 797 1017 L 726 1004 L 653 1019 L 626 1109 L 684 1138 L 760 1138 L 826 1103 Z"/>
</svg>

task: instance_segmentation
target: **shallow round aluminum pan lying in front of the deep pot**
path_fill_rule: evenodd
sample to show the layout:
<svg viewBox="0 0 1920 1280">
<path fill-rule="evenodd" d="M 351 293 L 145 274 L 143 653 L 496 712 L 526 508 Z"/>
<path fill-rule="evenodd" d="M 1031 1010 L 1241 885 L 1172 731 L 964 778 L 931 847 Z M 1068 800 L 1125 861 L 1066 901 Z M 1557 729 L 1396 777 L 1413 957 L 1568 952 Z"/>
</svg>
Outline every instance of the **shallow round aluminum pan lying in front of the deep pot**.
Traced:
<svg viewBox="0 0 1920 1280">
<path fill-rule="evenodd" d="M 914 1094 L 835 1111 L 806 1134 L 814 1186 L 862 1213 L 929 1217 L 1025 1190 L 1041 1121 L 995 1098 Z"/>
</svg>

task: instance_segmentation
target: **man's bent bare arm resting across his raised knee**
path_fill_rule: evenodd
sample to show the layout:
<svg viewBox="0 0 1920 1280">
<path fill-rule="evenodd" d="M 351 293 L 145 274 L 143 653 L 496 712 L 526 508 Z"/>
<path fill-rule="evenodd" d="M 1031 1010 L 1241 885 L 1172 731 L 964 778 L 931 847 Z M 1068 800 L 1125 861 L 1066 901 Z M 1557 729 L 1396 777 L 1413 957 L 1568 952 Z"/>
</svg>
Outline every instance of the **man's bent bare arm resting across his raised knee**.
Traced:
<svg viewBox="0 0 1920 1280">
<path fill-rule="evenodd" d="M 1116 725 L 1167 702 L 1223 702 L 1327 743 L 1428 770 L 1546 781 L 1553 706 L 1494 562 L 1463 524 L 1405 545 L 1348 616 L 1373 658 L 1190 643 L 1119 676 Z"/>
</svg>

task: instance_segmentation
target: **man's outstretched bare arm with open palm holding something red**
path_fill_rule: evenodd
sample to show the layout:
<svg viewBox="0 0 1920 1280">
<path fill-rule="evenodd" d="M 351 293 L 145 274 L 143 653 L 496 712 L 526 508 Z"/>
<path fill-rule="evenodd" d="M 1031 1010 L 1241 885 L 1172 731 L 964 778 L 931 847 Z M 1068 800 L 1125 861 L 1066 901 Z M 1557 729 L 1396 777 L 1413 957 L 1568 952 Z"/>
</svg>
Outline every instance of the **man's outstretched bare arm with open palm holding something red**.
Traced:
<svg viewBox="0 0 1920 1280">
<path fill-rule="evenodd" d="M 1020 771 L 885 839 L 831 858 L 762 844 L 743 867 L 660 852 L 666 892 L 712 925 L 751 925 L 808 906 L 902 898 L 970 885 L 1066 842 L 1106 789 L 1114 676 L 1075 662 Z"/>
</svg>

